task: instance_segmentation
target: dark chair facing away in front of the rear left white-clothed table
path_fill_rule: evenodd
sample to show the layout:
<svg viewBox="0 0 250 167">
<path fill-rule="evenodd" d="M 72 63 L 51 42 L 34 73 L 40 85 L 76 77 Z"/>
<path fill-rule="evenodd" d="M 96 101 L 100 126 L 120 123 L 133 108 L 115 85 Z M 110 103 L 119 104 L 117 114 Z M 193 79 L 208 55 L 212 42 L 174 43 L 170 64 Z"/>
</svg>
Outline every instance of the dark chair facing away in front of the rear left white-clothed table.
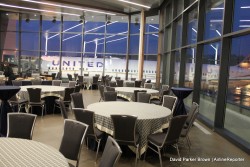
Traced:
<svg viewBox="0 0 250 167">
<path fill-rule="evenodd" d="M 42 116 L 43 116 L 43 110 L 46 112 L 46 105 L 45 101 L 41 100 L 41 91 L 40 88 L 27 88 L 29 100 L 28 100 L 28 112 L 31 108 L 31 113 L 33 113 L 33 107 L 39 106 L 42 108 Z"/>
</svg>

